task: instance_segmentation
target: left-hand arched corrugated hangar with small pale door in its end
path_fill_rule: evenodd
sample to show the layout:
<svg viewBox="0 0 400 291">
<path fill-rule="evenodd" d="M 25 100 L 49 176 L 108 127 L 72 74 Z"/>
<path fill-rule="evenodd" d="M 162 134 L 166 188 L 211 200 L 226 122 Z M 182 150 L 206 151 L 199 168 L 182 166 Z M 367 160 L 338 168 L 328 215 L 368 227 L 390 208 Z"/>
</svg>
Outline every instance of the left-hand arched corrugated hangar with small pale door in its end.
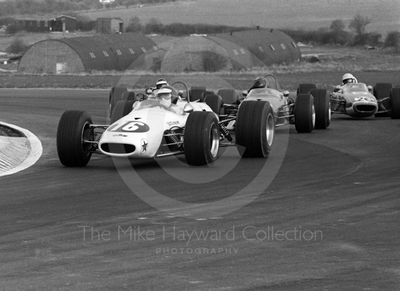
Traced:
<svg viewBox="0 0 400 291">
<path fill-rule="evenodd" d="M 150 68 L 164 49 L 139 33 L 47 39 L 34 43 L 22 55 L 18 73 L 76 73 L 92 70 Z"/>
</svg>

